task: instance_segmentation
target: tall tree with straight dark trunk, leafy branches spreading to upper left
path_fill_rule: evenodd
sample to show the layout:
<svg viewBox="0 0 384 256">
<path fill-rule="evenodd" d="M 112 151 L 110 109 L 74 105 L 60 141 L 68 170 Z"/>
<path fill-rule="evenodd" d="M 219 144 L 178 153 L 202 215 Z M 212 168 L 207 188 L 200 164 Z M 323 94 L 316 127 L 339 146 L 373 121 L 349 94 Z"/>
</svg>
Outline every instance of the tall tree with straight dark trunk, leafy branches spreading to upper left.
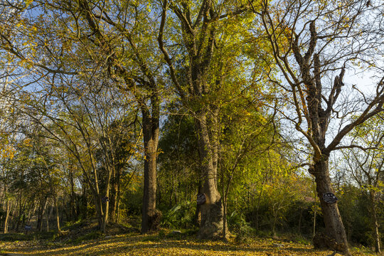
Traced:
<svg viewBox="0 0 384 256">
<path fill-rule="evenodd" d="M 156 229 L 156 157 L 159 140 L 159 65 L 152 48 L 150 2 L 34 1 L 16 9 L 33 10 L 1 30 L 1 48 L 18 58 L 19 65 L 39 71 L 36 80 L 65 74 L 92 78 L 109 75 L 110 82 L 131 92 L 142 110 L 144 134 L 144 203 L 142 232 Z M 136 20 L 140 26 L 131 26 Z M 11 27 L 20 27 L 14 31 Z M 146 40 L 143 40 L 143 36 Z M 16 38 L 18 40 L 16 40 Z M 153 40 L 152 40 L 153 41 Z M 16 43 L 14 43 L 16 42 Z M 39 78 L 40 76 L 40 78 Z M 140 88 L 140 89 L 139 89 Z"/>
</svg>

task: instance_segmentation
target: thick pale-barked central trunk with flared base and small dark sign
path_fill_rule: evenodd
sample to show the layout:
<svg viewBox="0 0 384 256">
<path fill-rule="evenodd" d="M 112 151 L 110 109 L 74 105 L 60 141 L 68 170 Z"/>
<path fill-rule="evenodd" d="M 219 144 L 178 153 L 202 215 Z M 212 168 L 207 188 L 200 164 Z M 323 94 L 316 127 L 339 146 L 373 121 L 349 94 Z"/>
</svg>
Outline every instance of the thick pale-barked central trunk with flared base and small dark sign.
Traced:
<svg viewBox="0 0 384 256">
<path fill-rule="evenodd" d="M 217 156 L 213 156 L 215 151 L 212 150 L 210 142 L 206 113 L 201 112 L 196 116 L 196 129 L 203 174 L 201 192 L 206 195 L 206 203 L 200 208 L 201 223 L 198 237 L 220 238 L 223 234 L 223 203 L 217 188 L 217 163 L 214 163 Z"/>
</svg>

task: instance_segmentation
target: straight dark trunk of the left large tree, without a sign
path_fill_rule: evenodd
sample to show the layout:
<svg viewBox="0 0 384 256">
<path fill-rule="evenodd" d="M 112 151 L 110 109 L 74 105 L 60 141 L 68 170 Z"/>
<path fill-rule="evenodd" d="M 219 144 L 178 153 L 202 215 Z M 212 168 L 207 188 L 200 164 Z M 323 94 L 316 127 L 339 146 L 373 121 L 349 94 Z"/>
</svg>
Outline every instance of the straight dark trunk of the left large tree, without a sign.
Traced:
<svg viewBox="0 0 384 256">
<path fill-rule="evenodd" d="M 145 155 L 142 233 L 145 234 L 157 230 L 161 218 L 161 213 L 156 210 L 156 158 L 159 143 L 159 119 L 150 117 L 146 106 L 142 107 L 142 115 Z"/>
</svg>

